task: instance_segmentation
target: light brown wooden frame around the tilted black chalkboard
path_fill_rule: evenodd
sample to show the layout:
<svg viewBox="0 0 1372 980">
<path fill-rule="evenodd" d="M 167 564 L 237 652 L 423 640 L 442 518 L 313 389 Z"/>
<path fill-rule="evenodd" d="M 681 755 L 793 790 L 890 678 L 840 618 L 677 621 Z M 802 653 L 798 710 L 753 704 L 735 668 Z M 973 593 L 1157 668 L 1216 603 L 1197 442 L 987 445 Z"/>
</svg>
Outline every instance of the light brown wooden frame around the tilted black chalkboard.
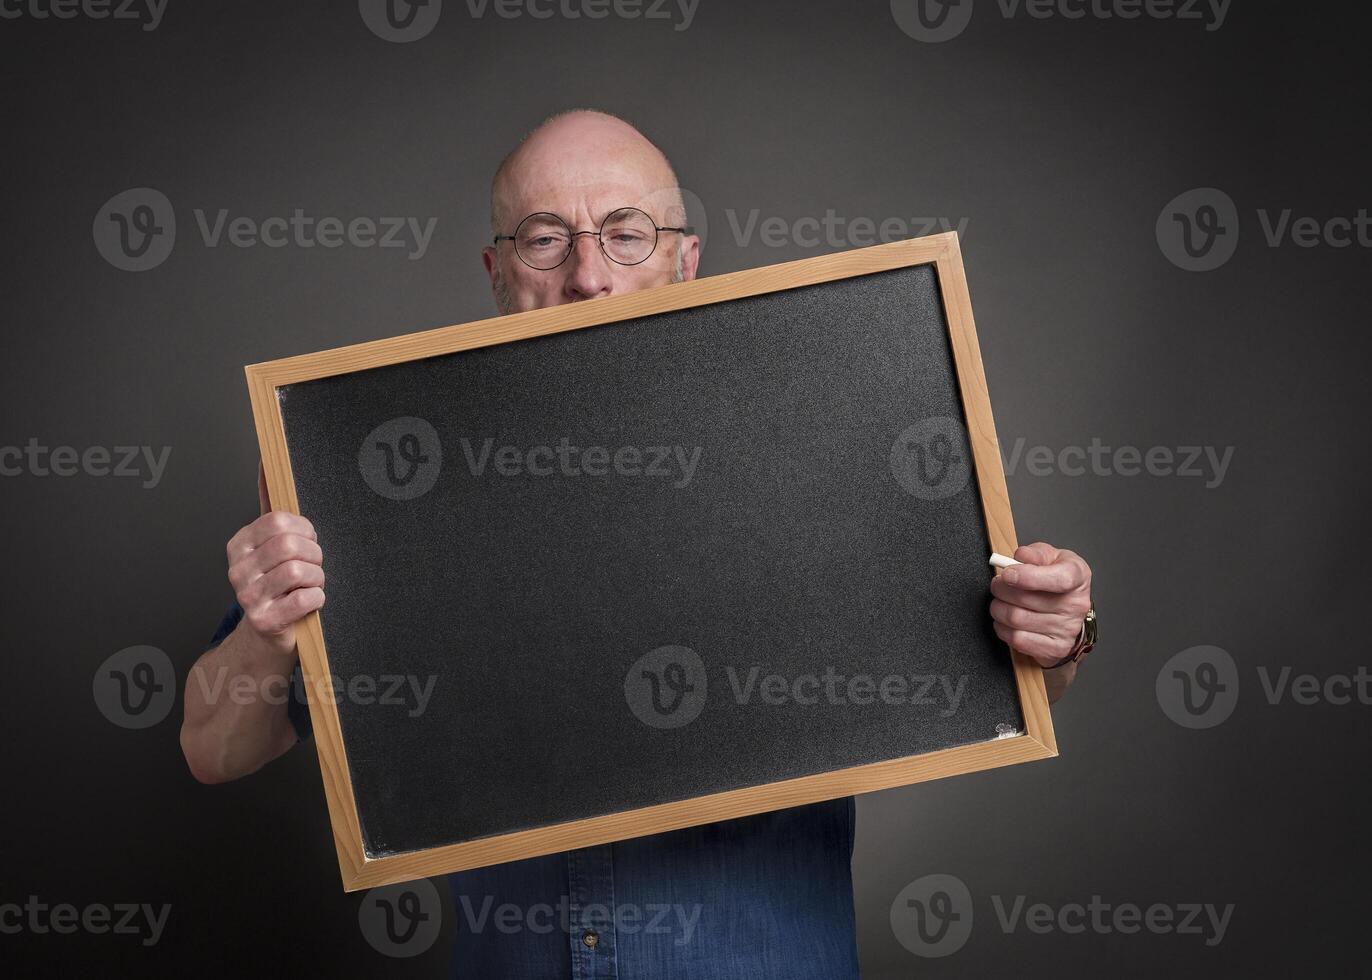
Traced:
<svg viewBox="0 0 1372 980">
<path fill-rule="evenodd" d="M 623 296 L 440 327 L 406 336 L 250 365 L 246 368 L 248 390 L 273 506 L 299 512 L 276 391 L 281 386 L 645 317 L 653 313 L 929 264 L 936 266 L 943 294 L 944 314 L 967 419 L 967 435 L 981 489 L 988 544 L 991 550 L 1010 555 L 1015 549 L 1015 530 L 956 233 L 858 248 L 690 283 L 676 283 Z M 317 612 L 305 619 L 298 637 L 302 670 L 307 685 L 313 689 L 316 679 L 329 677 L 328 653 L 324 649 L 324 634 Z M 338 705 L 331 699 L 310 699 L 310 718 L 314 723 L 314 740 L 318 748 L 320 769 L 324 774 L 324 793 L 328 799 L 343 887 L 346 891 L 373 888 L 431 874 L 590 847 L 626 837 L 663 833 L 702 822 L 746 817 L 768 810 L 1055 756 L 1058 749 L 1043 673 L 1029 657 L 1014 652 L 1011 656 L 1019 704 L 1025 718 L 1025 732 L 1021 734 L 384 856 L 368 856 L 364 848 L 347 755 L 343 749 Z"/>
</svg>

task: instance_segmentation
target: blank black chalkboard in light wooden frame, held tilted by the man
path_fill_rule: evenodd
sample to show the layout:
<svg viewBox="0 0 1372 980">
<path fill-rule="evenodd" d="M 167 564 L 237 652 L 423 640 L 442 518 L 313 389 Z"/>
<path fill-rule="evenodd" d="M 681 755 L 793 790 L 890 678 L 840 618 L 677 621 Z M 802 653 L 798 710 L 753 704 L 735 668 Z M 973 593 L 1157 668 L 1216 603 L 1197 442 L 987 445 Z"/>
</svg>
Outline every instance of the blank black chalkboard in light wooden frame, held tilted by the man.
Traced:
<svg viewBox="0 0 1372 980">
<path fill-rule="evenodd" d="M 1052 752 L 986 615 L 966 335 L 938 261 L 900 244 L 863 275 L 270 384 L 325 555 L 305 662 L 342 682 L 311 710 L 355 873 L 793 806 L 958 747 Z"/>
</svg>

